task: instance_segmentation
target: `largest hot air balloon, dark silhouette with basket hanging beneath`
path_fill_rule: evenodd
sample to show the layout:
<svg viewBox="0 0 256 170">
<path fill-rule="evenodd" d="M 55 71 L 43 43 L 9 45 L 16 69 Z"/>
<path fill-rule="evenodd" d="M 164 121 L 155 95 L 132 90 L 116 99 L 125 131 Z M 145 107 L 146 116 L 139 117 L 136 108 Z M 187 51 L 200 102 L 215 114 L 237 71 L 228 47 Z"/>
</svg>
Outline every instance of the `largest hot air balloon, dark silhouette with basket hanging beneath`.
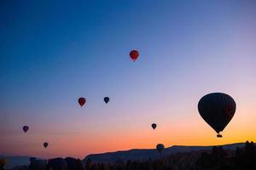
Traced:
<svg viewBox="0 0 256 170">
<path fill-rule="evenodd" d="M 228 94 L 212 93 L 203 96 L 198 103 L 201 117 L 218 133 L 224 130 L 236 112 L 236 102 Z"/>
</svg>

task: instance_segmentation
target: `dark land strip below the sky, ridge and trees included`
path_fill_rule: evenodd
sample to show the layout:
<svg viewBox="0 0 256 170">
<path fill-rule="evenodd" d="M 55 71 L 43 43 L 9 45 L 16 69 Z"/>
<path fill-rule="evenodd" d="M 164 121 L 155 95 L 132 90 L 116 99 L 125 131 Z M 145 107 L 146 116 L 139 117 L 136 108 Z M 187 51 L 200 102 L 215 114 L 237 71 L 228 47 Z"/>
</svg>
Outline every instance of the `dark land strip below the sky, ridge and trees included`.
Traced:
<svg viewBox="0 0 256 170">
<path fill-rule="evenodd" d="M 253 142 L 223 146 L 172 146 L 162 155 L 156 150 L 127 150 L 86 156 L 42 160 L 29 158 L 24 166 L 1 170 L 254 170 L 256 147 Z M 3 156 L 2 156 L 3 157 Z M 23 159 L 26 159 L 23 157 Z"/>
</svg>

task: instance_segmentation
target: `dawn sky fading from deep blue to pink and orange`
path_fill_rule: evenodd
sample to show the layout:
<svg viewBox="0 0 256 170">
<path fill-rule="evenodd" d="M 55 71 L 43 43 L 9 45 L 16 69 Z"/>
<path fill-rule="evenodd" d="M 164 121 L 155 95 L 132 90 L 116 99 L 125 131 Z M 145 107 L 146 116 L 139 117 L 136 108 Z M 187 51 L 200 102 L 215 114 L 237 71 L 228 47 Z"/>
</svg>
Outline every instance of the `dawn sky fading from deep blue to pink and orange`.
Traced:
<svg viewBox="0 0 256 170">
<path fill-rule="evenodd" d="M 1 1 L 0 154 L 256 141 L 255 75 L 253 0 Z M 223 139 L 197 111 L 212 92 L 236 100 Z"/>
</svg>

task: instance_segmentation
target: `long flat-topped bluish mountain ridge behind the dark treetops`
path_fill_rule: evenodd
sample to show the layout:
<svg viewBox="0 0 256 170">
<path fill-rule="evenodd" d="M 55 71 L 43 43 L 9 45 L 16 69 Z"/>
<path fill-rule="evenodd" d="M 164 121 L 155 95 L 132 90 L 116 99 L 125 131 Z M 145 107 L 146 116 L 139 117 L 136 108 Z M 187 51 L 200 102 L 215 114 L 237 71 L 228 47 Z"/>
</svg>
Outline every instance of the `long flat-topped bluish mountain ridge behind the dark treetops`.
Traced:
<svg viewBox="0 0 256 170">
<path fill-rule="evenodd" d="M 236 144 L 224 144 L 222 145 L 224 150 L 236 150 L 236 147 L 244 147 L 245 143 L 236 143 Z M 173 145 L 169 148 L 166 148 L 162 156 L 173 155 L 176 153 L 184 153 L 198 150 L 212 150 L 213 145 L 210 146 L 183 146 L 183 145 Z M 83 164 L 87 159 L 96 163 L 113 163 L 115 161 L 146 161 L 146 160 L 155 160 L 160 158 L 160 154 L 157 150 L 148 149 L 148 150 L 123 150 L 116 152 L 107 152 L 102 154 L 91 154 L 85 156 Z"/>
</svg>

